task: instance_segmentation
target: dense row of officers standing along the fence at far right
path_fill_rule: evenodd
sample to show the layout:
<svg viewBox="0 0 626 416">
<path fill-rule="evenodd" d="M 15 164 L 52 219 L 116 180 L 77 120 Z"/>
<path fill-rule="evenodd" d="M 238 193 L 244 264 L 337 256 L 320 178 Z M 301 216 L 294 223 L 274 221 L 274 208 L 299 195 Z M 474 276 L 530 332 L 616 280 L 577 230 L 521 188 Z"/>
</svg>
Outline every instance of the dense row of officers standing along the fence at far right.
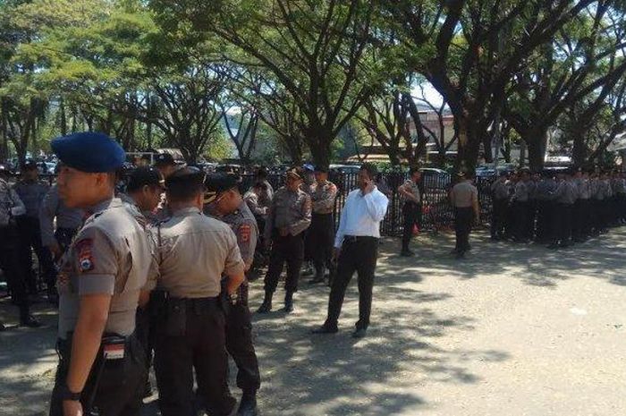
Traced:
<svg viewBox="0 0 626 416">
<path fill-rule="evenodd" d="M 612 170 L 502 173 L 491 185 L 493 241 L 567 247 L 626 223 L 626 179 Z"/>
</svg>

